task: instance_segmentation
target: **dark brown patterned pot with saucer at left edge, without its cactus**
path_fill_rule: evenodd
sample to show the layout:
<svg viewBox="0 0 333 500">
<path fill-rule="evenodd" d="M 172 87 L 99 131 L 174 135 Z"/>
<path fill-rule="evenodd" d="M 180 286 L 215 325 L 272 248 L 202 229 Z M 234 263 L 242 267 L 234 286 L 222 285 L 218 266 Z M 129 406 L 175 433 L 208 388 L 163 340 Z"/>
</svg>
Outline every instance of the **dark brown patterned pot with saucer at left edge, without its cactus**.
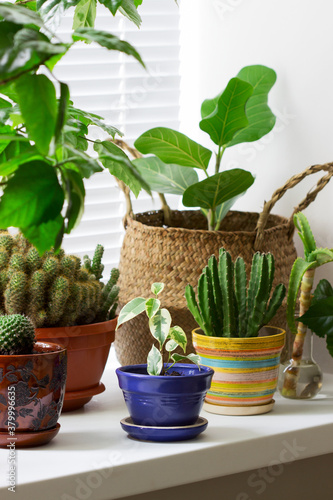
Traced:
<svg viewBox="0 0 333 500">
<path fill-rule="evenodd" d="M 0 446 L 50 441 L 59 430 L 67 373 L 66 349 L 36 342 L 33 354 L 0 356 Z M 15 427 L 15 431 L 8 426 Z"/>
</svg>

